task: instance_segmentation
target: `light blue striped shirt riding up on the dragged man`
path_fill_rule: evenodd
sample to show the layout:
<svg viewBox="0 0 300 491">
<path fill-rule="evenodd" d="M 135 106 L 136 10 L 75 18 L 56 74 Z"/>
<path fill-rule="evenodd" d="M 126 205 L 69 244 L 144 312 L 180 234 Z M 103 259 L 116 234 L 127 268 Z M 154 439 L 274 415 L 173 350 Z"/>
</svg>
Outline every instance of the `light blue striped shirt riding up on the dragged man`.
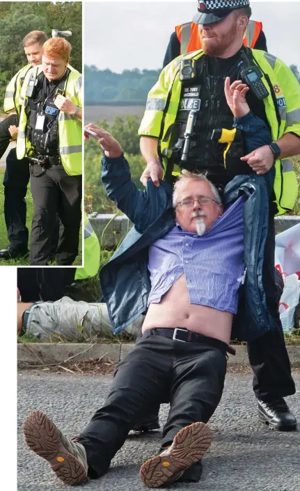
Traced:
<svg viewBox="0 0 300 491">
<path fill-rule="evenodd" d="M 243 200 L 239 198 L 203 236 L 179 224 L 149 248 L 150 303 L 159 303 L 185 274 L 190 303 L 237 312 L 244 275 Z"/>
</svg>

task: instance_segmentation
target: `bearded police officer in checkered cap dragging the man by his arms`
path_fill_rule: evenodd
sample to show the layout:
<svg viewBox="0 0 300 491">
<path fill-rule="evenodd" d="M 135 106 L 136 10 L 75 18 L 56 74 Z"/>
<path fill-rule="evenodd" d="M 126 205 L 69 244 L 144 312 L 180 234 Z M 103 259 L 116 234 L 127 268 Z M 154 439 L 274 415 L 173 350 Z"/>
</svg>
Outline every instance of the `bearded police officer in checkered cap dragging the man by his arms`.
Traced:
<svg viewBox="0 0 300 491">
<path fill-rule="evenodd" d="M 287 157 L 300 153 L 300 86 L 281 60 L 243 46 L 250 16 L 248 0 L 199 1 L 194 22 L 200 24 L 203 50 L 167 65 L 148 95 L 139 129 L 141 153 L 147 163 L 141 182 L 145 185 L 150 177 L 159 186 L 163 174 L 172 182 L 180 168 L 188 168 L 207 172 L 207 177 L 223 188 L 238 173 L 264 174 L 274 167 L 274 196 L 262 267 L 274 329 L 248 344 L 248 356 L 260 419 L 277 430 L 291 430 L 297 421 L 283 398 L 294 394 L 295 387 L 276 302 L 274 214 L 292 209 L 298 195 L 297 179 Z M 224 94 L 226 77 L 229 83 L 241 79 L 251 88 L 246 101 L 269 126 L 274 139 L 243 161 L 241 141 L 233 141 L 226 153 L 226 138 L 230 138 L 214 138 L 222 133 L 231 135 L 233 129 Z M 251 113 L 245 118 L 244 126 L 248 124 L 251 129 Z"/>
</svg>

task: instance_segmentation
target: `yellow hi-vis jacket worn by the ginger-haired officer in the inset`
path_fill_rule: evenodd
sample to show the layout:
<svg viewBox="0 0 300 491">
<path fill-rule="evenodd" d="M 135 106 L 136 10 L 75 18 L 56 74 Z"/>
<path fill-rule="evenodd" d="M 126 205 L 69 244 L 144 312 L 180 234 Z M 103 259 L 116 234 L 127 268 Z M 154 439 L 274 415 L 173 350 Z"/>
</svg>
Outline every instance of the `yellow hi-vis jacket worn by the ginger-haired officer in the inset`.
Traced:
<svg viewBox="0 0 300 491">
<path fill-rule="evenodd" d="M 70 74 L 65 81 L 65 95 L 70 97 L 72 102 L 82 107 L 82 77 L 77 70 L 70 67 Z M 31 143 L 26 138 L 27 115 L 26 105 L 28 97 L 26 89 L 31 77 L 37 78 L 42 72 L 42 66 L 33 67 L 26 74 L 21 90 L 21 113 L 19 115 L 19 131 L 17 135 L 17 159 L 23 159 L 26 152 L 31 147 Z M 82 124 L 75 116 L 59 111 L 58 113 L 58 152 L 61 156 L 63 168 L 69 175 L 82 174 Z"/>
</svg>

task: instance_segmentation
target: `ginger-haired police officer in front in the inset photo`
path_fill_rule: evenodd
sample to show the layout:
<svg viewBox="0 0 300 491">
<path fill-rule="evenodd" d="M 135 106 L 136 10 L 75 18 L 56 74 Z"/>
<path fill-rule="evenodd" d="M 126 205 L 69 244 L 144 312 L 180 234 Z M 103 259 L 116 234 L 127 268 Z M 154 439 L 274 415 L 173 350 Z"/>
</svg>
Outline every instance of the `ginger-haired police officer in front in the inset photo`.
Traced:
<svg viewBox="0 0 300 491">
<path fill-rule="evenodd" d="M 42 66 L 22 86 L 17 158 L 29 157 L 33 220 L 31 266 L 44 266 L 52 251 L 56 213 L 61 231 L 57 264 L 78 254 L 81 223 L 81 74 L 70 65 L 70 43 L 52 38 L 42 47 Z"/>
</svg>

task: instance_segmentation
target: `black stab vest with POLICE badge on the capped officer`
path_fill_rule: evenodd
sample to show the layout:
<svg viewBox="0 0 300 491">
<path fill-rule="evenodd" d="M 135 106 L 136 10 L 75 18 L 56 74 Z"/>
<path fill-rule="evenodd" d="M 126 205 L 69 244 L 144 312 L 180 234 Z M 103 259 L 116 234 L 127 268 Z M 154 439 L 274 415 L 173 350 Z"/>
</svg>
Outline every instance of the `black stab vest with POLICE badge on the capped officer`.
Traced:
<svg viewBox="0 0 300 491">
<path fill-rule="evenodd" d="M 214 129 L 232 129 L 233 115 L 226 102 L 223 76 L 212 76 L 208 73 L 206 56 L 196 61 L 196 77 L 182 82 L 180 106 L 177 111 L 173 129 L 174 163 L 191 171 L 205 172 L 207 178 L 216 186 L 225 186 L 235 175 L 253 172 L 247 163 L 240 160 L 245 155 L 242 135 L 230 145 L 224 163 L 224 150 L 227 145 L 212 140 Z M 232 79 L 237 79 L 239 68 L 233 68 Z M 187 126 L 189 111 L 198 103 L 194 135 L 191 138 L 188 161 L 180 163 L 184 144 L 184 131 Z"/>
</svg>

